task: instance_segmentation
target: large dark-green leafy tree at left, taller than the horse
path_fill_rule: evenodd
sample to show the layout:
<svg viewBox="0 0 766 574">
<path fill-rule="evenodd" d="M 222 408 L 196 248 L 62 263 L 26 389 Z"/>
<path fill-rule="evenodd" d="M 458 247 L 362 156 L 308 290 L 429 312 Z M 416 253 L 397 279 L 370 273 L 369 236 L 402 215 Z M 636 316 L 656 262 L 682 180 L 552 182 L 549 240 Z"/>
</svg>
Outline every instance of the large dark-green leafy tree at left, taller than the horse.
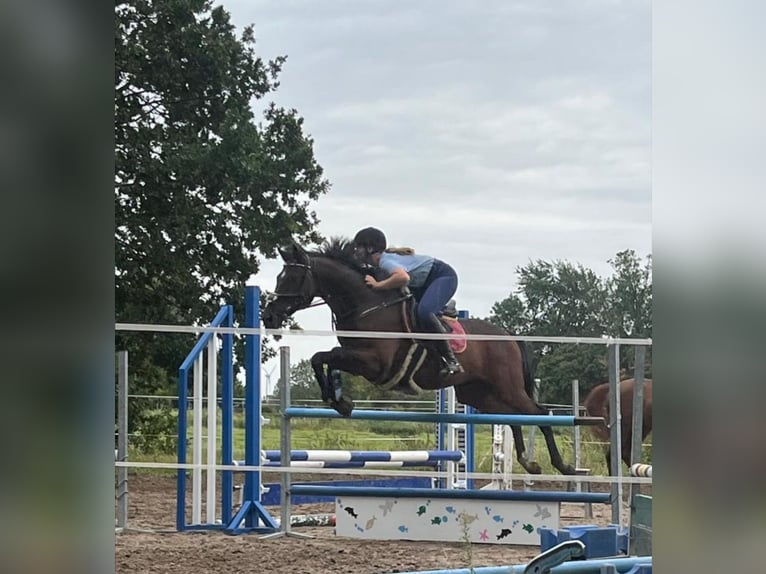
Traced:
<svg viewBox="0 0 766 574">
<path fill-rule="evenodd" d="M 116 3 L 118 322 L 206 323 L 224 302 L 241 317 L 258 252 L 321 239 L 311 204 L 329 183 L 313 140 L 296 110 L 265 101 L 285 61 L 258 57 L 253 27 L 238 37 L 209 0 Z M 175 380 L 192 340 L 120 333 L 116 343 Z"/>
</svg>

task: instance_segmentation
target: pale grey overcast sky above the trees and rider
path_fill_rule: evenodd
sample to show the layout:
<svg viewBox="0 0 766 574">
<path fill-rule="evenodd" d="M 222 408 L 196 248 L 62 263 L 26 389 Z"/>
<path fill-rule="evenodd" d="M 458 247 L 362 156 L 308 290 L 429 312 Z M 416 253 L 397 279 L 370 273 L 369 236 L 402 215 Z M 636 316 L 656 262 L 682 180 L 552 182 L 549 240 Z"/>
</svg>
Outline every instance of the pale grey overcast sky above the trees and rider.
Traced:
<svg viewBox="0 0 766 574">
<path fill-rule="evenodd" d="M 447 261 L 476 316 L 530 260 L 606 276 L 618 251 L 651 252 L 649 0 L 223 5 L 260 57 L 287 55 L 273 100 L 305 118 L 332 184 L 325 236 L 372 225 Z M 326 307 L 296 318 L 330 328 Z M 294 361 L 336 344 L 286 342 Z"/>
</svg>

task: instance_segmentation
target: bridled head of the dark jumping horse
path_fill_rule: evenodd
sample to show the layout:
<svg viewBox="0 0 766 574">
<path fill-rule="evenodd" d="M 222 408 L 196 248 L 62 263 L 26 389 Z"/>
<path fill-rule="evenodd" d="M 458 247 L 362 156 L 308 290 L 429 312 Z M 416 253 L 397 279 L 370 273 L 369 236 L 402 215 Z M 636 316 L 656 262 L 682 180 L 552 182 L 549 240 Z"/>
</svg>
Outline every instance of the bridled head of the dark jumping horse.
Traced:
<svg viewBox="0 0 766 574">
<path fill-rule="evenodd" d="M 281 327 L 290 315 L 311 305 L 316 295 L 316 280 L 308 253 L 293 242 L 280 248 L 279 254 L 285 265 L 277 276 L 275 297 L 261 314 L 267 329 Z"/>
</svg>

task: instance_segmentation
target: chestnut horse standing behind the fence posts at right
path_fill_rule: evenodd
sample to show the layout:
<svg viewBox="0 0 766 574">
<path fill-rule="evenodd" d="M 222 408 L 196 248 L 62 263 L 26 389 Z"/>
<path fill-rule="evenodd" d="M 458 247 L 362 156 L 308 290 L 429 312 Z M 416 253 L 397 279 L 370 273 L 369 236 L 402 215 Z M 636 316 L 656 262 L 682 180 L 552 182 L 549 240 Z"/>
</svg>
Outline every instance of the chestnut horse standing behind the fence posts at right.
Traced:
<svg viewBox="0 0 766 574">
<path fill-rule="evenodd" d="M 635 379 L 625 379 L 620 381 L 620 437 L 622 460 L 630 466 L 630 452 L 633 445 L 633 388 L 636 384 Z M 609 421 L 609 383 L 603 383 L 593 387 L 583 403 L 588 415 L 594 417 L 603 417 Z M 591 431 L 597 439 L 610 441 L 610 433 L 606 424 L 591 427 Z M 644 380 L 644 410 L 643 410 L 643 428 L 641 431 L 641 440 L 652 432 L 652 380 Z M 606 468 L 607 472 L 612 472 L 612 453 L 610 447 L 606 447 Z"/>
</svg>

